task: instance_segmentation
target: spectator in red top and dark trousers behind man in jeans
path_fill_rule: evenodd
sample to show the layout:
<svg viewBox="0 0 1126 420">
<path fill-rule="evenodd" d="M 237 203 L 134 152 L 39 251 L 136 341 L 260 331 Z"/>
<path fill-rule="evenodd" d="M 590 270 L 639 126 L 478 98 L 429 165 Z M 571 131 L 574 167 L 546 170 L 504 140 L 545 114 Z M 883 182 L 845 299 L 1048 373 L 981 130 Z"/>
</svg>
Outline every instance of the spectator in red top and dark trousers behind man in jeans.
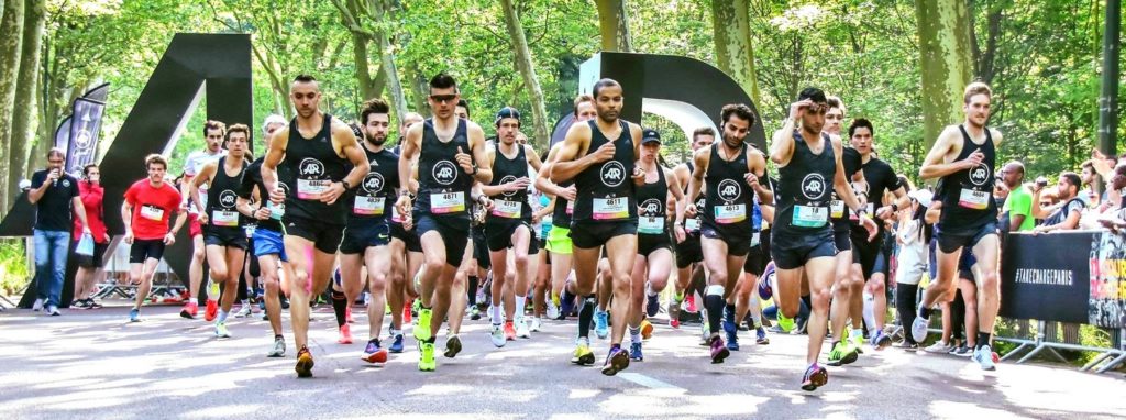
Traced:
<svg viewBox="0 0 1126 420">
<path fill-rule="evenodd" d="M 82 168 L 82 180 L 78 182 L 78 191 L 82 197 L 82 206 L 86 207 L 86 220 L 90 222 L 90 235 L 93 238 L 93 254 L 77 254 L 78 272 L 74 275 L 74 303 L 78 309 L 98 309 L 100 304 L 93 302 L 90 293 L 93 285 L 105 271 L 101 266 L 105 262 L 106 249 L 109 248 L 109 234 L 106 233 L 106 222 L 102 208 L 102 198 L 106 190 L 101 188 L 101 170 L 97 164 L 87 164 Z M 78 211 L 78 209 L 75 209 Z M 74 223 L 74 243 L 78 247 L 82 239 L 82 225 Z"/>
</svg>

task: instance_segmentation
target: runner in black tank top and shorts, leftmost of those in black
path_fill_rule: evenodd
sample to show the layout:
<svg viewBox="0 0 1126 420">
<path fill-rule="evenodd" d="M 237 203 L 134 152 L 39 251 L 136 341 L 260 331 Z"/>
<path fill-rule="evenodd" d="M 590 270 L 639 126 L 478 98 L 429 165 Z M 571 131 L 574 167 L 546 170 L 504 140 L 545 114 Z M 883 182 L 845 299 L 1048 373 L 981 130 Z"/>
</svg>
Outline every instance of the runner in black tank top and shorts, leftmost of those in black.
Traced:
<svg viewBox="0 0 1126 420">
<path fill-rule="evenodd" d="M 197 220 L 204 225 L 204 244 L 207 250 L 207 266 L 213 282 L 223 285 L 218 316 L 215 319 L 215 337 L 230 338 L 226 316 L 239 296 L 239 274 L 247 258 L 247 232 L 242 229 L 235 193 L 242 185 L 247 170 L 247 144 L 250 127 L 232 125 L 226 132 L 227 154 L 214 163 L 207 163 L 191 179 L 191 203 L 196 206 Z M 207 200 L 203 202 L 199 190 L 207 185 Z M 206 205 L 205 205 L 206 203 Z M 248 213 L 248 215 L 250 215 Z"/>
</svg>

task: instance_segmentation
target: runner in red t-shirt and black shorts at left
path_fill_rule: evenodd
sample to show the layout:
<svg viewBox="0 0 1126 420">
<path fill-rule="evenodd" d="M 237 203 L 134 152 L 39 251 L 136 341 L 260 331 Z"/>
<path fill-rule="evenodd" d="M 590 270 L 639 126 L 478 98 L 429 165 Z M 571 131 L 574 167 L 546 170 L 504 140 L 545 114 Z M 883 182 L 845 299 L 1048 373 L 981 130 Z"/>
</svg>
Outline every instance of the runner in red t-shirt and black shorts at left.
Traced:
<svg viewBox="0 0 1126 420">
<path fill-rule="evenodd" d="M 141 321 L 141 304 L 152 288 L 152 275 L 164 256 L 164 247 L 176 242 L 176 233 L 187 220 L 180 206 L 180 193 L 164 182 L 168 161 L 159 154 L 144 159 L 149 178 L 133 182 L 125 191 L 122 222 L 125 223 L 125 243 L 129 249 L 129 283 L 137 285 L 137 300 L 129 311 L 129 321 Z M 168 218 L 176 212 L 176 225 L 168 230 Z"/>
</svg>

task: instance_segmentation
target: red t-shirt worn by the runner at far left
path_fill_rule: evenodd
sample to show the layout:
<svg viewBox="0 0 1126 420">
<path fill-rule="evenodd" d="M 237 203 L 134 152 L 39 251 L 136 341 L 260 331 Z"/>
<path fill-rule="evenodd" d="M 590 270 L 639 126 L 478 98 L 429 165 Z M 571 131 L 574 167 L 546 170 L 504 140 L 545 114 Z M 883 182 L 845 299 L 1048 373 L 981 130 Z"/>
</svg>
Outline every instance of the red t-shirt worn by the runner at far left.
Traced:
<svg viewBox="0 0 1126 420">
<path fill-rule="evenodd" d="M 133 238 L 164 239 L 169 217 L 180 211 L 180 191 L 168 182 L 155 188 L 142 179 L 125 191 L 125 202 L 133 206 Z"/>
</svg>

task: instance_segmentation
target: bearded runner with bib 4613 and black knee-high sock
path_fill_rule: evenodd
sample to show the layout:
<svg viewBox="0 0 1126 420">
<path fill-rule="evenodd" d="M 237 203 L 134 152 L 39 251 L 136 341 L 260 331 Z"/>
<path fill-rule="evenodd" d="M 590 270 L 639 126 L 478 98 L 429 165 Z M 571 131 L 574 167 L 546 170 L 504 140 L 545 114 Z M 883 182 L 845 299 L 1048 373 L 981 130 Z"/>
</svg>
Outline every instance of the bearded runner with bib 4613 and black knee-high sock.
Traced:
<svg viewBox="0 0 1126 420">
<path fill-rule="evenodd" d="M 774 199 L 774 193 L 759 182 L 759 178 L 765 178 L 767 173 L 766 157 L 758 149 L 743 143 L 747 133 L 754 126 L 751 108 L 742 104 L 725 105 L 720 119 L 723 124 L 723 142 L 698 150 L 692 155 L 695 168 L 688 196 L 695 197 L 704 191 L 704 208 L 696 208 L 695 204 L 686 206 L 686 213 L 700 213 L 700 249 L 704 266 L 708 270 L 704 309 L 707 311 L 711 332 L 708 341 L 714 364 L 723 363 L 731 355 L 730 350 L 739 349 L 734 305 L 730 307 L 727 322 L 722 325 L 727 341 L 732 342 L 731 348 L 724 346 L 720 337 L 720 322 L 727 295 L 734 292 L 736 282 L 742 277 L 743 262 L 750 251 L 752 236 L 757 233 L 751 224 L 754 211 L 751 191 L 762 202 L 770 203 Z M 706 191 L 705 182 L 708 187 Z M 678 226 L 682 226 L 682 221 L 678 221 Z"/>
</svg>

